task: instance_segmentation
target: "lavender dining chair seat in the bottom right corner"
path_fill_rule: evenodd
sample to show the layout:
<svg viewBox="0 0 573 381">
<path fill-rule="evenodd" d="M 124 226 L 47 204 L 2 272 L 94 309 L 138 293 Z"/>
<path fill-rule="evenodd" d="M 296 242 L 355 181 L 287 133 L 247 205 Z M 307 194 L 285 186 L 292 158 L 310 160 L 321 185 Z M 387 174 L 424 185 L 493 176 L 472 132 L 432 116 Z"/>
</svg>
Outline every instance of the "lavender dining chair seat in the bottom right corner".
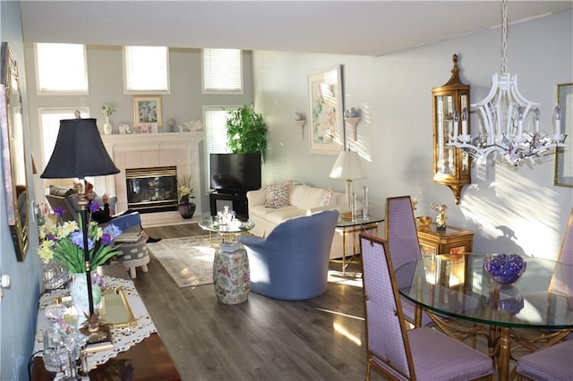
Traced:
<svg viewBox="0 0 573 381">
<path fill-rule="evenodd" d="M 573 377 L 573 340 L 555 344 L 517 360 L 517 377 L 570 380 Z"/>
</svg>

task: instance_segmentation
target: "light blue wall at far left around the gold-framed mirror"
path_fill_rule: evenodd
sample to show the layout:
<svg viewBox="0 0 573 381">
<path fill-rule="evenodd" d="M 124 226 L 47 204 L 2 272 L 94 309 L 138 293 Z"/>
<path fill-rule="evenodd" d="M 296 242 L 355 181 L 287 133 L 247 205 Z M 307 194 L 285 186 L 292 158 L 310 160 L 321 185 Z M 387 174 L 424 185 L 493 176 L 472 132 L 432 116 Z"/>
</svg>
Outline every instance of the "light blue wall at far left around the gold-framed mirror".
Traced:
<svg viewBox="0 0 573 381">
<path fill-rule="evenodd" d="M 27 160 L 31 163 L 20 2 L 2 1 L 0 5 L 0 38 L 10 44 L 18 60 L 24 108 L 24 138 L 27 140 L 26 152 L 29 156 Z M 28 184 L 33 186 L 30 168 L 27 176 Z M 4 182 L 4 163 L 0 165 L 0 177 Z M 33 194 L 33 191 L 30 194 Z M 33 349 L 40 292 L 40 264 L 36 254 L 38 238 L 37 234 L 30 234 L 28 255 L 24 261 L 18 262 L 7 223 L 5 202 L 6 195 L 2 190 L 0 191 L 0 271 L 3 275 L 9 275 L 12 283 L 9 288 L 3 290 L 4 297 L 0 303 L 0 378 L 11 381 L 28 380 L 28 361 Z M 30 221 L 30 232 L 37 230 L 36 222 Z"/>
</svg>

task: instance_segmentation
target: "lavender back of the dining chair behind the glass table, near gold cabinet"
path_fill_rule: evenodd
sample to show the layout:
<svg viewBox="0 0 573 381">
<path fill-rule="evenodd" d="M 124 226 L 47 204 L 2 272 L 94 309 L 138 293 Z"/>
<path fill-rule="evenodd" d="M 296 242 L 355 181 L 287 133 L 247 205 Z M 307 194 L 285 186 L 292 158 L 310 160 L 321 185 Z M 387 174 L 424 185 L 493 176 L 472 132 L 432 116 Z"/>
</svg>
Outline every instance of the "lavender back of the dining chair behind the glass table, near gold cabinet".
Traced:
<svg viewBox="0 0 573 381">
<path fill-rule="evenodd" d="M 394 268 L 422 258 L 410 196 L 386 199 L 386 240 Z"/>
</svg>

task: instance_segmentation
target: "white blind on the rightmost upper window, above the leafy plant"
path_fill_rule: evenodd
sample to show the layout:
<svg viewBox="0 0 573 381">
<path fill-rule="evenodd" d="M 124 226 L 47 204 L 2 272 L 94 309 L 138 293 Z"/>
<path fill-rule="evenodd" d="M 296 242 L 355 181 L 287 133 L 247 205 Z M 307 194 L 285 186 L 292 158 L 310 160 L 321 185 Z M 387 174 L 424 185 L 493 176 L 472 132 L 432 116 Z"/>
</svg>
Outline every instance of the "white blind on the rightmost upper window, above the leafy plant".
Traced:
<svg viewBox="0 0 573 381">
<path fill-rule="evenodd" d="M 243 93 L 243 65 L 239 49 L 203 49 L 203 93 Z"/>
</svg>

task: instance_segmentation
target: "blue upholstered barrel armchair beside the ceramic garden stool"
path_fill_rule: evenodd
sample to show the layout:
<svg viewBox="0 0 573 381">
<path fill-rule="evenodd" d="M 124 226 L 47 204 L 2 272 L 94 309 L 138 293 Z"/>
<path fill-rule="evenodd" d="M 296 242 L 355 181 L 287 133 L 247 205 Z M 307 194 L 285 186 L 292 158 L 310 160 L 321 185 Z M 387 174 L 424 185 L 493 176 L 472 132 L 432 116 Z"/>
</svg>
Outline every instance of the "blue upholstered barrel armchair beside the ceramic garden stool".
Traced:
<svg viewBox="0 0 573 381">
<path fill-rule="evenodd" d="M 326 292 L 337 221 L 338 211 L 327 210 L 286 220 L 267 238 L 240 236 L 249 257 L 251 291 L 283 301 Z"/>
</svg>

